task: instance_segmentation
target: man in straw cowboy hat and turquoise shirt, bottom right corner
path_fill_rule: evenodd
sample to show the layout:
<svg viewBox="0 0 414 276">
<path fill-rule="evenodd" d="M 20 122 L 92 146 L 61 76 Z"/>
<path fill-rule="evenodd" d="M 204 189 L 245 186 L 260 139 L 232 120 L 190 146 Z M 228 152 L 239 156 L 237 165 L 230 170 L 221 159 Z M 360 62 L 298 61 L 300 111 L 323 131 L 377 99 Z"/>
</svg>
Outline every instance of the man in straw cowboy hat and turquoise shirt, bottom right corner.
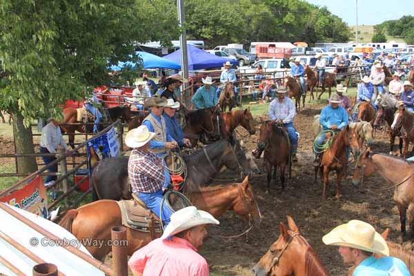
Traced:
<svg viewBox="0 0 414 276">
<path fill-rule="evenodd" d="M 385 239 L 371 224 L 353 219 L 322 237 L 326 245 L 339 246 L 344 264 L 355 267 L 352 276 L 409 276 L 406 264 L 390 255 Z M 373 254 L 385 255 L 376 259 Z"/>
</svg>

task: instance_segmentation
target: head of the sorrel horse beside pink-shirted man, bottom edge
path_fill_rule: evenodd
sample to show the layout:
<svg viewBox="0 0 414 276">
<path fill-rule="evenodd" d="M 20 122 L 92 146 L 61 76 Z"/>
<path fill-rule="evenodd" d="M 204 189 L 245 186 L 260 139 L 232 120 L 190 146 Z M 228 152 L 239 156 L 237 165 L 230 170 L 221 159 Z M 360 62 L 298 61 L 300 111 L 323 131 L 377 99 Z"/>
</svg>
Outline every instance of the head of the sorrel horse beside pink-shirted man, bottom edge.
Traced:
<svg viewBox="0 0 414 276">
<path fill-rule="evenodd" d="M 253 268 L 255 276 L 289 276 L 295 273 L 295 267 L 306 266 L 304 255 L 311 246 L 299 234 L 299 229 L 290 216 L 288 226 L 289 229 L 282 222 L 279 223 L 279 238 Z"/>
</svg>

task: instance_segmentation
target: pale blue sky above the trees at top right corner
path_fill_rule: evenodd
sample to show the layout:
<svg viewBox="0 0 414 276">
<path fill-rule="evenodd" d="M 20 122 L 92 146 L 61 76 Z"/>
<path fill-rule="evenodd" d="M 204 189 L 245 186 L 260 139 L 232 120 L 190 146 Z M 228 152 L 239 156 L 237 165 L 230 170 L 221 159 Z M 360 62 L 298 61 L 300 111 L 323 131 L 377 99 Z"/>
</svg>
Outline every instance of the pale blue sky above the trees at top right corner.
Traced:
<svg viewBox="0 0 414 276">
<path fill-rule="evenodd" d="M 349 26 L 356 25 L 355 2 L 358 1 L 358 25 L 376 25 L 386 20 L 414 16 L 414 0 L 305 0 L 341 17 Z"/>
</svg>

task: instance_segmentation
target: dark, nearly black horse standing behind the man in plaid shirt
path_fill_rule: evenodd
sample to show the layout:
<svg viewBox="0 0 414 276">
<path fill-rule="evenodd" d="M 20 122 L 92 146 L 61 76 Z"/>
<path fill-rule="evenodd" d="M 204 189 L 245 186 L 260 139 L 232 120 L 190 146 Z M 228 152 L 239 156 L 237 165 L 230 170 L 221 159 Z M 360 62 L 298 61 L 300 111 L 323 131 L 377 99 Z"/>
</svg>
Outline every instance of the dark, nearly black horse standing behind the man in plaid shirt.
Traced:
<svg viewBox="0 0 414 276">
<path fill-rule="evenodd" d="M 99 162 L 92 173 L 92 184 L 98 199 L 131 199 L 128 184 L 128 158 L 111 157 Z M 184 188 L 197 190 L 208 186 L 224 168 L 241 170 L 245 175 L 254 171 L 239 142 L 233 138 L 222 139 L 197 150 L 193 155 L 183 155 L 187 167 Z"/>
</svg>

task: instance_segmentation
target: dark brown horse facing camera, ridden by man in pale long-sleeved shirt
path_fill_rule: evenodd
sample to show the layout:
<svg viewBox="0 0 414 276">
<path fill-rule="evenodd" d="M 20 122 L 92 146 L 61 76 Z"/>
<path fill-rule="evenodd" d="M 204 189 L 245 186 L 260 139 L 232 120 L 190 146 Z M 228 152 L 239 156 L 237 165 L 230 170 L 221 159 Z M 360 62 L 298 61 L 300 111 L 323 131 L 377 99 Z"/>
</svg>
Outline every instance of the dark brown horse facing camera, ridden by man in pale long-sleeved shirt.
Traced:
<svg viewBox="0 0 414 276">
<path fill-rule="evenodd" d="M 288 134 L 283 127 L 277 126 L 274 121 L 264 121 L 262 117 L 260 117 L 260 121 L 262 121 L 262 126 L 260 126 L 259 141 L 257 141 L 257 157 L 259 158 L 264 150 L 267 171 L 266 193 L 270 192 L 272 169 L 275 169 L 273 173 L 273 177 L 275 177 L 277 167 L 280 168 L 280 182 L 282 190 L 284 190 L 285 170 L 288 168 L 288 177 L 290 178 L 292 166 Z"/>
</svg>

